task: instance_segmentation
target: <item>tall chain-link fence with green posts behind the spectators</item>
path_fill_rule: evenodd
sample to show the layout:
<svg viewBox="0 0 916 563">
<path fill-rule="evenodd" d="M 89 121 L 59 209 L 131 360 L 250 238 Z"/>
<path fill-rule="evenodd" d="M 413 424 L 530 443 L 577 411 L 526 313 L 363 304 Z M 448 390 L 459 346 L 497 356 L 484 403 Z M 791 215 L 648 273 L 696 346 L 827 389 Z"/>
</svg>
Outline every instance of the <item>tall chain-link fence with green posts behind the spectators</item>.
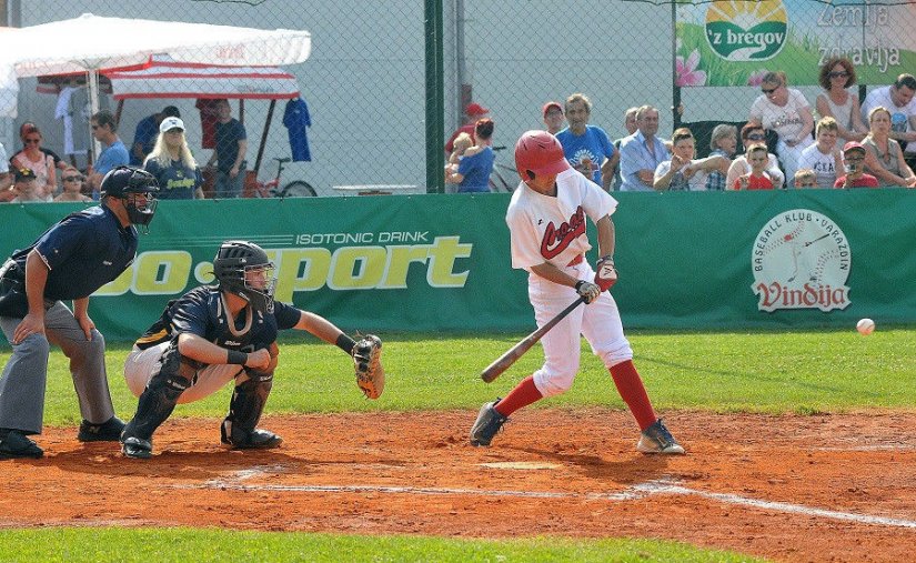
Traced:
<svg viewBox="0 0 916 563">
<path fill-rule="evenodd" d="M 848 86 L 856 97 L 890 84 L 900 73 L 916 72 L 916 9 L 903 1 L 9 0 L 3 9 L 6 20 L 22 28 L 92 12 L 127 20 L 306 30 L 308 60 L 281 64 L 268 77 L 243 80 L 218 72 L 215 79 L 185 78 L 200 83 L 185 82 L 187 91 L 182 84 L 174 91 L 174 84 L 163 86 L 177 74 L 167 69 L 127 95 L 119 91 L 127 87 L 105 78 L 102 69 L 99 104 L 119 112 L 118 134 L 128 150 L 145 118 L 174 105 L 193 155 L 204 164 L 213 153 L 207 124 L 213 118 L 201 100 L 228 98 L 232 117 L 243 118 L 248 168 L 256 164 L 258 177 L 268 182 L 276 174 L 276 159 L 290 158 L 279 187 L 302 180 L 320 195 L 373 187 L 442 191 L 442 145 L 464 123 L 471 102 L 489 110 L 496 147 L 511 148 L 523 131 L 544 128 L 544 103 L 562 103 L 574 92 L 591 99 L 588 122 L 612 140 L 628 134 L 624 112 L 643 104 L 661 110 L 660 135 L 692 124 L 703 139 L 713 123 L 747 119 L 767 71 L 784 71 L 789 88 L 797 88 L 812 110 L 824 91 L 819 68 L 831 56 L 855 64 L 858 80 Z M 233 33 L 228 30 L 227 39 Z M 64 40 L 64 48 L 69 43 L 74 52 L 89 42 L 87 37 Z M 28 53 L 34 44 L 19 43 L 0 60 Z M 225 56 L 249 54 L 250 47 L 240 41 L 224 48 Z M 184 62 L 195 61 L 189 57 Z M 291 76 L 304 105 L 290 102 L 283 73 Z M 84 168 L 91 130 L 83 84 L 80 76 L 19 79 L 11 104 L 16 117 L 8 117 L 0 130 L 8 155 L 21 147 L 20 124 L 32 121 L 46 148 Z M 913 93 L 906 90 L 904 94 Z M 511 183 L 510 153 L 497 151 L 496 170 Z"/>
</svg>

